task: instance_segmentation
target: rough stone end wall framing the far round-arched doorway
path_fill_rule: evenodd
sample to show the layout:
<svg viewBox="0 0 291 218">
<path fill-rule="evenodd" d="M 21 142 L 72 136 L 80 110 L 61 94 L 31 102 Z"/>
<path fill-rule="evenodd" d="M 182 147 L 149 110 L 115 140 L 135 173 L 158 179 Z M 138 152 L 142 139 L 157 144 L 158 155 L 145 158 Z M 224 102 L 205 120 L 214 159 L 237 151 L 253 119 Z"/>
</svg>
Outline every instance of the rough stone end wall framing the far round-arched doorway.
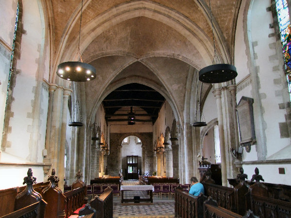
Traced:
<svg viewBox="0 0 291 218">
<path fill-rule="evenodd" d="M 130 133 L 110 133 L 110 155 L 107 157 L 108 172 L 112 176 L 118 176 L 121 169 L 123 173 L 125 169 L 122 167 L 122 142 L 127 137 L 136 137 L 141 140 L 141 169 L 140 174 L 145 171 L 153 172 L 153 134 L 152 132 L 130 132 Z M 117 161 L 117 163 L 116 163 Z"/>
</svg>

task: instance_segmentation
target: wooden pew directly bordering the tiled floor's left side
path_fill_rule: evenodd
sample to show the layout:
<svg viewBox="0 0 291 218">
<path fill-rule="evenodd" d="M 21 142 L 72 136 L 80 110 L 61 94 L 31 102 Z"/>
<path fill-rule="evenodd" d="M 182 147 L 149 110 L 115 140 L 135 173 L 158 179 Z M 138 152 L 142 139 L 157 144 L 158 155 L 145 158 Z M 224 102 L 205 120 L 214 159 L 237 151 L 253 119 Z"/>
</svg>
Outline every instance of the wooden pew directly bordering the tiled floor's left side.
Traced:
<svg viewBox="0 0 291 218">
<path fill-rule="evenodd" d="M 90 201 L 90 205 L 96 210 L 96 218 L 112 218 L 113 189 L 107 187 L 99 197 L 97 196 Z"/>
</svg>

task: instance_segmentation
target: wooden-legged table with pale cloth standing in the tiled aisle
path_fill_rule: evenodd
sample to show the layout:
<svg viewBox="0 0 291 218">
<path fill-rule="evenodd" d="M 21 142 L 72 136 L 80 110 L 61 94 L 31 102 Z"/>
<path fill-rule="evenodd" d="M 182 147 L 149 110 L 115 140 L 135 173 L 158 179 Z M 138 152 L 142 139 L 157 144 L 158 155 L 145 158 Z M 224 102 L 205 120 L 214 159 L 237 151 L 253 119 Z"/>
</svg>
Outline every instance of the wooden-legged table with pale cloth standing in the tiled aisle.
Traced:
<svg viewBox="0 0 291 218">
<path fill-rule="evenodd" d="M 146 191 L 149 193 L 149 198 L 140 198 L 138 202 L 153 202 L 153 191 L 154 187 L 152 185 L 138 185 L 138 186 L 121 186 L 120 192 L 121 192 L 121 203 L 123 202 L 135 202 L 135 199 L 124 199 L 123 192 L 124 191 Z"/>
</svg>

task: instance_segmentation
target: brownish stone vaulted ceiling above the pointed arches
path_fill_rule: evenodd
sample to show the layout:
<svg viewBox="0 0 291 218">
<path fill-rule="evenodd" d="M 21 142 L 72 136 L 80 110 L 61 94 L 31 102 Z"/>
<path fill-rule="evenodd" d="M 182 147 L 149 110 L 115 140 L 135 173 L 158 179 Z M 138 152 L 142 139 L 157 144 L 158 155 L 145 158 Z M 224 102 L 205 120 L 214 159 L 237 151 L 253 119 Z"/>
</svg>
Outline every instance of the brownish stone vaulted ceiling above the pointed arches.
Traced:
<svg viewBox="0 0 291 218">
<path fill-rule="evenodd" d="M 79 38 L 81 0 L 46 3 L 55 69 L 77 57 L 72 54 Z M 233 62 L 241 0 L 210 4 L 217 50 L 225 62 Z M 185 93 L 191 66 L 199 70 L 213 57 L 209 0 L 83 0 L 80 47 L 82 59 L 96 66 L 98 75 L 85 85 L 88 112 L 129 83 L 154 88 L 176 99 L 182 109 L 184 96 L 179 93 Z M 205 98 L 210 85 L 199 87 Z"/>
</svg>

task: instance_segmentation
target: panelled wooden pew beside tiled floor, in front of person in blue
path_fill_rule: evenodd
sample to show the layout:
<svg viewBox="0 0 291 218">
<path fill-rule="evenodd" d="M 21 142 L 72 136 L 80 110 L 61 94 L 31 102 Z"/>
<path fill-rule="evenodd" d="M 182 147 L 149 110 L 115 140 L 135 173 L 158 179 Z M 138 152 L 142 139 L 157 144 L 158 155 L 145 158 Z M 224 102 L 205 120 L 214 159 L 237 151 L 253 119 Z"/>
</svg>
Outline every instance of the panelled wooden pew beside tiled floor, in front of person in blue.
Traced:
<svg viewBox="0 0 291 218">
<path fill-rule="evenodd" d="M 203 202 L 207 198 L 200 193 L 191 195 L 179 188 L 175 189 L 175 217 L 203 218 Z"/>
</svg>

